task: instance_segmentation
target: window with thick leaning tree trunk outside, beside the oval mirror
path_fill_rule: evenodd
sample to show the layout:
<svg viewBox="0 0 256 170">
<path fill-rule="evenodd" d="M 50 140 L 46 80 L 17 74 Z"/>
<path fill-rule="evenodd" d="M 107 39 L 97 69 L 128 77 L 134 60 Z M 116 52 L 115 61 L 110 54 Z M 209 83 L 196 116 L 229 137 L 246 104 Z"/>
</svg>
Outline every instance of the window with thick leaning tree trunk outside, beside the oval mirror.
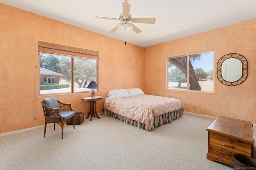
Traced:
<svg viewBox="0 0 256 170">
<path fill-rule="evenodd" d="M 214 51 L 167 58 L 167 90 L 214 92 Z"/>
</svg>

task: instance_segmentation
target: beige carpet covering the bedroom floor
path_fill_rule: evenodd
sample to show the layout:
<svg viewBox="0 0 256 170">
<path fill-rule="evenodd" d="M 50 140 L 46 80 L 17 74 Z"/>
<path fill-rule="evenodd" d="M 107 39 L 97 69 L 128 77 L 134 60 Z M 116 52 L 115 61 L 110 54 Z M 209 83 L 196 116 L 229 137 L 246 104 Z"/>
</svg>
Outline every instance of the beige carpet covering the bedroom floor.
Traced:
<svg viewBox="0 0 256 170">
<path fill-rule="evenodd" d="M 184 113 L 145 131 L 100 115 L 81 125 L 44 128 L 0 137 L 1 170 L 231 170 L 206 159 L 208 132 L 215 120 Z M 255 127 L 254 127 L 255 131 Z M 254 133 L 255 136 L 255 133 Z"/>
</svg>

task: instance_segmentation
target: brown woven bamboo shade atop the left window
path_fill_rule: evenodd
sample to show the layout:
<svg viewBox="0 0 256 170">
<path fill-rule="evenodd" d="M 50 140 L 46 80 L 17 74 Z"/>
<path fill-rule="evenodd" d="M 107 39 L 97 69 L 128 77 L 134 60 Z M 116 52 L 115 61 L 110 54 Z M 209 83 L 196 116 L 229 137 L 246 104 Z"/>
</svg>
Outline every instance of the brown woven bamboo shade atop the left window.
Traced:
<svg viewBox="0 0 256 170">
<path fill-rule="evenodd" d="M 65 55 L 70 57 L 82 57 L 87 59 L 100 59 L 98 51 L 70 47 L 66 45 L 38 41 L 38 53 Z"/>
</svg>

